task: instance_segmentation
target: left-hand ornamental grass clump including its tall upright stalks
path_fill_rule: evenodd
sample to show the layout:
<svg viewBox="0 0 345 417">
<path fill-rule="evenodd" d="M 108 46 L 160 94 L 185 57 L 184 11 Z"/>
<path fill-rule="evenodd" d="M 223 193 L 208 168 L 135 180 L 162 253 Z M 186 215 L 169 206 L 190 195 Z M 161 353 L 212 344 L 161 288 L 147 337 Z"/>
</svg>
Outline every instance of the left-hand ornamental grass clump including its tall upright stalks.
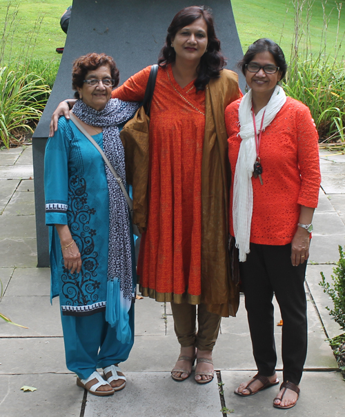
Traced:
<svg viewBox="0 0 345 417">
<path fill-rule="evenodd" d="M 37 19 L 21 53 L 11 58 L 18 11 L 19 3 L 9 1 L 0 36 L 0 147 L 6 148 L 19 144 L 28 133 L 34 132 L 51 92 L 50 86 L 37 74 L 38 68 L 44 73 L 42 63 L 32 61 L 41 18 Z M 46 72 L 51 74 L 49 69 Z"/>
</svg>

